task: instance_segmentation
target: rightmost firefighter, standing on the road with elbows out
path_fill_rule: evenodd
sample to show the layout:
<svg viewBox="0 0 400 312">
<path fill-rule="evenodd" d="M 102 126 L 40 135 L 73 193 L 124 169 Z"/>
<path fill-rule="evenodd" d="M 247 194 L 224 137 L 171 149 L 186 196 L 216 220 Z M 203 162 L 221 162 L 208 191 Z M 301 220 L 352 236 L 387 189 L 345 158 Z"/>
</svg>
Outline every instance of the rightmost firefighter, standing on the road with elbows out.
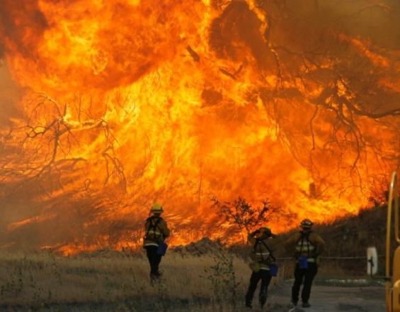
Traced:
<svg viewBox="0 0 400 312">
<path fill-rule="evenodd" d="M 292 235 L 285 242 L 285 249 L 295 254 L 295 283 L 292 286 L 292 304 L 297 306 L 300 286 L 302 289 L 302 307 L 309 308 L 311 286 L 318 272 L 319 256 L 324 252 L 325 242 L 318 234 L 312 232 L 312 221 L 304 219 L 300 226 L 302 230 Z"/>
</svg>

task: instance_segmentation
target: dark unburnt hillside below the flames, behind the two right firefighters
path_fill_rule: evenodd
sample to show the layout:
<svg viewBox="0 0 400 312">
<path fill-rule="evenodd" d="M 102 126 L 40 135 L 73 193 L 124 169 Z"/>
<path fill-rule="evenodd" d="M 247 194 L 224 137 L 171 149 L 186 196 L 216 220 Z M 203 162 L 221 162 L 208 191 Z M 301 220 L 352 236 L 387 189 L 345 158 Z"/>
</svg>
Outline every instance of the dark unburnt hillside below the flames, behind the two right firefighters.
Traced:
<svg viewBox="0 0 400 312">
<path fill-rule="evenodd" d="M 375 246 L 379 255 L 379 273 L 383 274 L 386 218 L 386 207 L 377 206 L 375 208 L 363 209 L 355 216 L 345 216 L 331 223 L 314 225 L 314 231 L 319 233 L 326 242 L 326 251 L 321 263 L 321 272 L 328 275 L 365 275 L 367 247 Z M 289 275 L 292 269 L 292 260 L 290 259 L 292 255 L 287 254 L 282 245 L 297 230 L 299 229 L 282 233 L 277 238 L 270 240 L 275 257 L 279 258 L 278 262 L 285 264 L 285 267 L 289 268 L 287 272 Z M 174 250 L 180 252 L 182 255 L 204 255 L 214 252 L 221 245 L 219 241 L 203 238 L 198 242 L 190 243 L 186 246 L 178 246 Z M 392 247 L 394 248 L 394 245 Z M 251 252 L 250 247 L 244 247 L 243 245 L 231 246 L 229 250 L 239 255 L 239 257 L 244 258 L 244 260 L 248 258 Z"/>
</svg>

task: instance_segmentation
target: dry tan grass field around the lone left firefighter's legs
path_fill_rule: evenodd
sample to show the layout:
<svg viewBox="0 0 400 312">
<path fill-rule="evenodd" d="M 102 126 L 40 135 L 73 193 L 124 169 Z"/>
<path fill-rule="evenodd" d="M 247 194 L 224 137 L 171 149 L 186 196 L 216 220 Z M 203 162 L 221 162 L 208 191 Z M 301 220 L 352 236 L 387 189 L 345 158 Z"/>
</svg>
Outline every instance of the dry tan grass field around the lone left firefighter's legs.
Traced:
<svg viewBox="0 0 400 312">
<path fill-rule="evenodd" d="M 250 269 L 238 257 L 170 251 L 160 269 L 163 279 L 152 285 L 144 252 L 3 253 L 0 310 L 241 311 Z"/>
</svg>

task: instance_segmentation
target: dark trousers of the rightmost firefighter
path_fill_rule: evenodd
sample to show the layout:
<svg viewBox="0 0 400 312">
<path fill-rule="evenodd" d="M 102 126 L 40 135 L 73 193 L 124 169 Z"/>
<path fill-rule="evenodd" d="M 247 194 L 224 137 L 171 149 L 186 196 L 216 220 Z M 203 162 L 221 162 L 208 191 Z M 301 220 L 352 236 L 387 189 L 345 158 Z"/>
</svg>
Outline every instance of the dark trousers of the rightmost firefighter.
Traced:
<svg viewBox="0 0 400 312">
<path fill-rule="evenodd" d="M 307 269 L 300 269 L 299 264 L 296 264 L 295 268 L 295 284 L 292 287 L 292 301 L 299 301 L 300 286 L 302 286 L 304 279 L 304 286 L 302 290 L 302 301 L 308 302 L 311 294 L 312 280 L 318 272 L 318 267 L 314 262 L 308 262 Z"/>
</svg>

